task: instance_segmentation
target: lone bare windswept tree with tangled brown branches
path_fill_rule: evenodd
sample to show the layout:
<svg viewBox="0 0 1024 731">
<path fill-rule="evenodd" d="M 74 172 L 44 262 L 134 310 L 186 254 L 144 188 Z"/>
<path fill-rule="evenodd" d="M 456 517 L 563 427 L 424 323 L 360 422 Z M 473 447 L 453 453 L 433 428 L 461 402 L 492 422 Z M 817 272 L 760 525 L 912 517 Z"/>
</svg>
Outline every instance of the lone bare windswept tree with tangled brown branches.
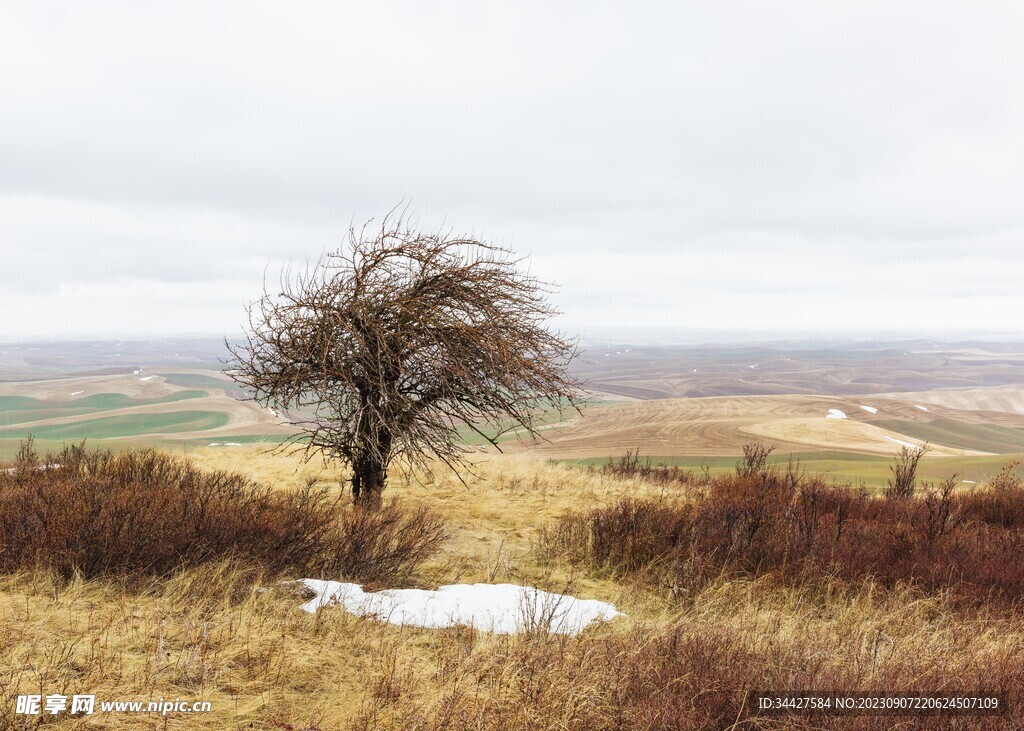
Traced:
<svg viewBox="0 0 1024 731">
<path fill-rule="evenodd" d="M 373 226 L 371 228 L 371 226 Z M 313 454 L 351 467 L 352 497 L 380 502 L 389 467 L 465 466 L 465 430 L 498 446 L 540 436 L 552 405 L 579 411 L 574 342 L 550 331 L 553 289 L 508 249 L 425 233 L 389 214 L 248 307 L 227 343 L 231 378 L 288 415 Z M 499 447 L 500 448 L 500 447 Z"/>
</svg>

